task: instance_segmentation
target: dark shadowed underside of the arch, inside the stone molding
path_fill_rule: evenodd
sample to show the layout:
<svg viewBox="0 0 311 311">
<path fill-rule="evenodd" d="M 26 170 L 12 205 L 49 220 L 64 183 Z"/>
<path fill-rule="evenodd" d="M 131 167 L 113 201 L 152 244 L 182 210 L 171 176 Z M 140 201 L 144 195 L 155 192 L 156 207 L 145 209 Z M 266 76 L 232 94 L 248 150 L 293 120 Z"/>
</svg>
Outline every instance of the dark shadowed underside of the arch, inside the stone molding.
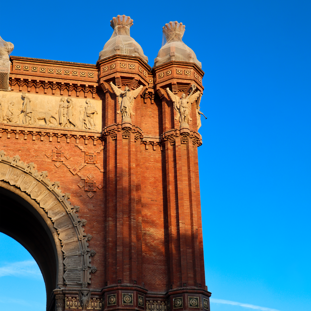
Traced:
<svg viewBox="0 0 311 311">
<path fill-rule="evenodd" d="M 58 286 L 58 257 L 62 256 L 59 254 L 61 245 L 57 241 L 58 234 L 48 225 L 49 219 L 45 213 L 40 215 L 39 209 L 31 202 L 7 188 L 5 183 L 0 182 L 0 231 L 24 246 L 35 259 L 45 283 L 46 310 L 54 310 L 53 290 Z"/>
</svg>

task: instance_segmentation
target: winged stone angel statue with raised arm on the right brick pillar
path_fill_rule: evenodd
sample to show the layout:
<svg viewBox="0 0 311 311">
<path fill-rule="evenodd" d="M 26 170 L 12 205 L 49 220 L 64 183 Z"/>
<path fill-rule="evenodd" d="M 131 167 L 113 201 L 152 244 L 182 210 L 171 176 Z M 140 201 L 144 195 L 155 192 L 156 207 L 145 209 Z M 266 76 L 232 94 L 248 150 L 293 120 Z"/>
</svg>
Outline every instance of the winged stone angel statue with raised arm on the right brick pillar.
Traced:
<svg viewBox="0 0 311 311">
<path fill-rule="evenodd" d="M 175 120 L 179 119 L 180 125 L 183 123 L 187 124 L 188 127 L 188 122 L 189 120 L 192 121 L 192 118 L 190 116 L 191 114 L 191 104 L 197 100 L 197 98 L 200 95 L 200 91 L 197 91 L 196 93 L 193 94 L 193 91 L 197 88 L 194 84 L 192 86 L 192 91 L 191 93 L 186 97 L 186 94 L 182 94 L 181 98 L 179 98 L 177 95 L 175 95 L 172 91 L 169 90 L 169 88 L 166 88 L 166 92 L 169 95 L 169 98 L 172 100 L 174 103 L 174 109 L 177 111 L 177 116 Z"/>
</svg>

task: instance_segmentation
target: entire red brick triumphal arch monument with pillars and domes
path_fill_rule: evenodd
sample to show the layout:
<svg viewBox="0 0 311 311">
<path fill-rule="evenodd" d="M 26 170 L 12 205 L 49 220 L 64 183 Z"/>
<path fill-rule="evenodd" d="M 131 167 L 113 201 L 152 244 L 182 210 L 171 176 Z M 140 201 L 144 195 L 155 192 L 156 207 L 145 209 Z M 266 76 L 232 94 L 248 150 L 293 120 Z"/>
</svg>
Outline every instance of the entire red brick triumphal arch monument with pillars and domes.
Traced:
<svg viewBox="0 0 311 311">
<path fill-rule="evenodd" d="M 1 231 L 38 262 L 47 310 L 210 310 L 197 157 L 204 72 L 181 23 L 163 27 L 153 68 L 131 25 L 111 21 L 96 65 L 10 57 Z"/>
</svg>

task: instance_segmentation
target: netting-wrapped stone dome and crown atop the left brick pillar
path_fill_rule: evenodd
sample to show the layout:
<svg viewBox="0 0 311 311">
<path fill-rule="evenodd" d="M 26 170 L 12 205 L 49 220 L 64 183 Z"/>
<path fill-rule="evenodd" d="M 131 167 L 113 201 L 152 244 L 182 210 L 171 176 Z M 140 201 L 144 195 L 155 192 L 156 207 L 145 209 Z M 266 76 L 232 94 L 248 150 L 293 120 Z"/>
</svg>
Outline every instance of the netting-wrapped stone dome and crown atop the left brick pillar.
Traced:
<svg viewBox="0 0 311 311">
<path fill-rule="evenodd" d="M 130 16 L 118 15 L 110 21 L 110 26 L 114 32 L 99 53 L 99 59 L 103 59 L 114 54 L 124 54 L 139 56 L 148 63 L 148 57 L 144 55 L 142 47 L 130 36 L 130 28 L 133 20 Z"/>
</svg>

